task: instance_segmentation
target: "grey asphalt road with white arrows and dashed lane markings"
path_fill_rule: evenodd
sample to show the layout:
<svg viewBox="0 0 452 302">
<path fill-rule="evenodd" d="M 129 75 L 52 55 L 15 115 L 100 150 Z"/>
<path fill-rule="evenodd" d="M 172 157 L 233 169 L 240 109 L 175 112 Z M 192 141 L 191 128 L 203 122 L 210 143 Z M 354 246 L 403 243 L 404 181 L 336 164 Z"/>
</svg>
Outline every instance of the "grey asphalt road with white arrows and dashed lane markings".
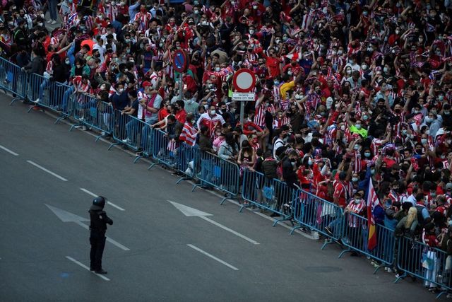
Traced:
<svg viewBox="0 0 452 302">
<path fill-rule="evenodd" d="M 10 100 L 0 96 L 1 301 L 434 299 L 419 282 L 393 284 L 393 274 L 372 274 L 365 257 L 338 259 L 335 245 L 321 250 L 236 204 L 220 206 L 211 192 L 191 192 L 167 170 L 133 164 L 120 148 L 107 151 L 88 132 Z M 114 204 L 105 207 L 117 243 L 105 246 L 105 279 L 83 268 L 93 199 L 86 191 Z M 212 216 L 185 216 L 168 201 Z"/>
</svg>

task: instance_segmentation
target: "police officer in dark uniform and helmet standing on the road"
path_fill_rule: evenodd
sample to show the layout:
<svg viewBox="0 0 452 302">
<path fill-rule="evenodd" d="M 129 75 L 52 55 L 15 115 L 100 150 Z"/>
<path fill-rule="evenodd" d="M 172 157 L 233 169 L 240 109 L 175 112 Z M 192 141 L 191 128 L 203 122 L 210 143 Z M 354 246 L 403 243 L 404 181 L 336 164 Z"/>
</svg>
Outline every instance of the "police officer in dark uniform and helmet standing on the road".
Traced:
<svg viewBox="0 0 452 302">
<path fill-rule="evenodd" d="M 90 208 L 90 270 L 96 274 L 107 274 L 107 271 L 102 269 L 102 254 L 105 247 L 105 231 L 107 231 L 107 223 L 113 224 L 112 219 L 109 219 L 107 213 L 104 211 L 105 197 L 99 196 L 93 200 L 93 205 Z"/>
</svg>

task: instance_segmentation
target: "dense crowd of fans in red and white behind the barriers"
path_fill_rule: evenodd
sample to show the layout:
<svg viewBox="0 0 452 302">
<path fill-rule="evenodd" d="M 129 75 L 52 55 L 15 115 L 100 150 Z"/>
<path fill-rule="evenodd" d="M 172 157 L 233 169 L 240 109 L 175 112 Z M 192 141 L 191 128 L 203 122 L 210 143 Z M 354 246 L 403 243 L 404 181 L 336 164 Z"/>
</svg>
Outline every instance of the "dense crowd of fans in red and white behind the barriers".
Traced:
<svg viewBox="0 0 452 302">
<path fill-rule="evenodd" d="M 448 0 L 4 0 L 0 46 L 47 79 L 37 105 L 49 81 L 67 83 L 63 107 L 95 95 L 358 215 L 371 180 L 376 223 L 452 255 L 451 16 Z M 174 50 L 189 55 L 184 74 Z M 256 101 L 240 124 L 242 68 Z"/>
</svg>

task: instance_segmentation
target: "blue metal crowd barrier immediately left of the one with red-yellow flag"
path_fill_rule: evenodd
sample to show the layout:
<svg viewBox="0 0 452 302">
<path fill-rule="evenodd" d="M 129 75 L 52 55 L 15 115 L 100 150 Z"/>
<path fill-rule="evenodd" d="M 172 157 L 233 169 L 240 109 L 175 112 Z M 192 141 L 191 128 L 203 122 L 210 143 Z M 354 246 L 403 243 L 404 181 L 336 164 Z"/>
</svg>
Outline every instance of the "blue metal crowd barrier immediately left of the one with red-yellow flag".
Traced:
<svg viewBox="0 0 452 302">
<path fill-rule="evenodd" d="M 322 245 L 322 250 L 329 243 L 339 243 L 340 238 L 343 236 L 343 209 L 337 204 L 316 197 L 314 194 L 304 190 L 300 190 L 299 199 L 295 202 L 294 220 L 298 223 L 298 226 L 292 228 L 290 234 L 297 228 L 307 227 L 330 238 Z M 326 228 L 331 233 L 328 233 Z"/>
</svg>

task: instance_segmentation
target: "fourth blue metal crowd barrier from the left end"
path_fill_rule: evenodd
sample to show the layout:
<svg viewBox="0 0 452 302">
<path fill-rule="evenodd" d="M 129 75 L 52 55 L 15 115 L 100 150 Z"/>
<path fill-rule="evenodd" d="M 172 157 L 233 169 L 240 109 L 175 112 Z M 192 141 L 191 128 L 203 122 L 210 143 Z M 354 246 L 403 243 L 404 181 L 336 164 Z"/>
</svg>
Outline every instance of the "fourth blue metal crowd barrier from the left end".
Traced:
<svg viewBox="0 0 452 302">
<path fill-rule="evenodd" d="M 83 108 L 83 106 L 82 106 Z M 113 111 L 113 139 L 116 141 L 108 147 L 108 150 L 113 146 L 125 145 L 134 151 L 140 148 L 139 137 L 141 135 L 141 128 L 143 121 L 131 115 L 126 115 L 121 110 L 115 109 Z"/>
</svg>

